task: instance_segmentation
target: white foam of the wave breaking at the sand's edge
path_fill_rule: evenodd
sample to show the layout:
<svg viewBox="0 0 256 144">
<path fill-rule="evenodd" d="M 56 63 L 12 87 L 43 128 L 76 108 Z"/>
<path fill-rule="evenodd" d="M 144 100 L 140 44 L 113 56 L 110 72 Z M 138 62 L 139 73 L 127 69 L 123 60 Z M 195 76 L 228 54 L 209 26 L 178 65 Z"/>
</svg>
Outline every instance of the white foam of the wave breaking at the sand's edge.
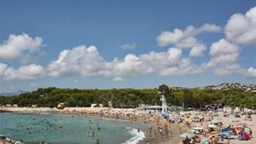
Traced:
<svg viewBox="0 0 256 144">
<path fill-rule="evenodd" d="M 132 138 L 122 144 L 137 144 L 139 141 L 146 137 L 143 131 L 138 132 L 137 129 L 132 129 L 130 127 L 126 127 L 126 129 L 129 131 L 129 134 L 131 134 Z"/>
</svg>

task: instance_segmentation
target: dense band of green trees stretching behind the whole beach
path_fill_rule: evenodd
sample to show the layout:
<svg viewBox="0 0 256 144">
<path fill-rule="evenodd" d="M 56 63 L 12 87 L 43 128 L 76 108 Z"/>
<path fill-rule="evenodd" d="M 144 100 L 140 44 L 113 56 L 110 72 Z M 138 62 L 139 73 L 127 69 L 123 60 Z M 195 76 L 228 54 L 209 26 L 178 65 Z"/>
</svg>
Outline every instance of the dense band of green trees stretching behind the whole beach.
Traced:
<svg viewBox="0 0 256 144">
<path fill-rule="evenodd" d="M 38 88 L 38 90 L 23 93 L 13 97 L 0 97 L 0 104 L 17 104 L 19 106 L 56 107 L 60 102 L 66 106 L 86 107 L 92 103 L 113 107 L 134 108 L 139 104 L 160 104 L 159 92 L 164 93 L 168 105 L 185 107 L 204 107 L 217 104 L 219 106 L 256 107 L 256 93 L 243 92 L 239 89 L 173 89 L 160 85 L 153 89 L 70 89 L 70 88 Z"/>
</svg>

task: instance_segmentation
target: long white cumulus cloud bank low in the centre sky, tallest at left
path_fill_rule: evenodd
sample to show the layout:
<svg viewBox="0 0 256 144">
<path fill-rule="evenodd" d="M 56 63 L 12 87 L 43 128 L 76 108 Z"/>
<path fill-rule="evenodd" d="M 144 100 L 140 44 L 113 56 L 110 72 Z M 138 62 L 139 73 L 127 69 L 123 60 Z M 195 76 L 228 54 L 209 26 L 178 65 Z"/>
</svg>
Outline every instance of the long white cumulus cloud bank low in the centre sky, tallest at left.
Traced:
<svg viewBox="0 0 256 144">
<path fill-rule="evenodd" d="M 151 51 L 141 55 L 127 54 L 123 59 L 114 58 L 113 61 L 106 61 L 96 47 L 84 45 L 62 51 L 58 59 L 48 65 L 47 71 L 52 77 L 103 76 L 113 77 L 114 81 L 122 81 L 123 77 L 150 73 L 175 75 L 166 71 L 171 67 L 178 67 L 182 70 L 180 74 L 198 71 L 189 58 L 182 57 L 182 50 L 174 47 L 168 51 Z M 166 72 L 162 74 L 164 70 Z"/>
</svg>

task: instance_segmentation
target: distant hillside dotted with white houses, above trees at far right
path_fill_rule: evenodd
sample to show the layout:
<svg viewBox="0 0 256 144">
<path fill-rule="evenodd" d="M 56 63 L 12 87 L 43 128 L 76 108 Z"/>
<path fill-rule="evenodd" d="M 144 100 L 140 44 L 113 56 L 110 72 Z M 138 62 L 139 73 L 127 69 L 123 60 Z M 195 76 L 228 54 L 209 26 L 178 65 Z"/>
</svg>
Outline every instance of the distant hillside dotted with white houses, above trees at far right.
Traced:
<svg viewBox="0 0 256 144">
<path fill-rule="evenodd" d="M 229 90 L 229 89 L 241 89 L 245 92 L 256 92 L 256 85 L 254 84 L 241 84 L 241 83 L 221 83 L 219 85 L 211 85 L 200 87 L 201 89 L 213 89 L 213 90 Z"/>
</svg>

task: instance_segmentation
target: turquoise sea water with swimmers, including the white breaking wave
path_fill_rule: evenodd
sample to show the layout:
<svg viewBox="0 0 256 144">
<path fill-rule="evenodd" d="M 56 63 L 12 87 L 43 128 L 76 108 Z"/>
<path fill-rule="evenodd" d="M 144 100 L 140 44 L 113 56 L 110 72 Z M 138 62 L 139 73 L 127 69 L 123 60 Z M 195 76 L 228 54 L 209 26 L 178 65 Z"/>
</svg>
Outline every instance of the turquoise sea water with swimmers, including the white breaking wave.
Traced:
<svg viewBox="0 0 256 144">
<path fill-rule="evenodd" d="M 90 144 L 97 139 L 100 144 L 136 144 L 145 138 L 145 129 L 137 122 L 84 115 L 0 113 L 0 134 L 27 144 Z M 93 131 L 95 136 L 87 136 Z"/>
</svg>

